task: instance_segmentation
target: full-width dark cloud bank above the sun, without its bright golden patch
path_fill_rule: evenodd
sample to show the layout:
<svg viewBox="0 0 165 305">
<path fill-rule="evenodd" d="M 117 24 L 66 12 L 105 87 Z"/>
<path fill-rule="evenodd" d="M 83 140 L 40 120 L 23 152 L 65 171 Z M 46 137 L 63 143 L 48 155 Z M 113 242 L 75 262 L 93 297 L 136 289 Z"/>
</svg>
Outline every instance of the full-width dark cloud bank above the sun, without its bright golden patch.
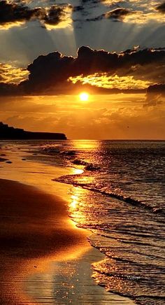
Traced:
<svg viewBox="0 0 165 305">
<path fill-rule="evenodd" d="M 126 50 L 119 54 L 104 50 L 92 50 L 82 46 L 77 57 L 62 56 L 59 52 L 41 55 L 27 67 L 29 79 L 20 85 L 0 83 L 1 95 L 12 94 L 63 94 L 82 89 L 80 83 L 73 85 L 69 77 L 87 76 L 93 73 L 108 73 L 109 76 L 134 76 L 137 80 L 152 80 L 156 86 L 150 86 L 148 93 L 164 94 L 165 50 L 145 49 Z M 158 81 L 159 80 L 159 81 Z M 84 87 L 83 87 L 84 88 Z M 86 88 L 86 87 L 85 87 Z M 94 88 L 94 93 L 143 92 L 143 90 L 107 90 Z"/>
</svg>

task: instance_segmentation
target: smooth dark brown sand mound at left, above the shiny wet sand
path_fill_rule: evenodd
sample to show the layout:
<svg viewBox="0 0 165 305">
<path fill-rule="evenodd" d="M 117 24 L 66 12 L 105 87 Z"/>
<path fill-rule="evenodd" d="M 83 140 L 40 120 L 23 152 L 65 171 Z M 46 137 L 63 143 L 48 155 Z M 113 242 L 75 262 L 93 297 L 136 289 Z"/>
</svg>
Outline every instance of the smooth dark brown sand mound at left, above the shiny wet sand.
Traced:
<svg viewBox="0 0 165 305">
<path fill-rule="evenodd" d="M 58 197 L 1 179 L 0 192 L 0 237 L 11 255 L 40 257 L 79 244 L 87 235 L 76 234 L 68 222 L 65 202 Z"/>
</svg>

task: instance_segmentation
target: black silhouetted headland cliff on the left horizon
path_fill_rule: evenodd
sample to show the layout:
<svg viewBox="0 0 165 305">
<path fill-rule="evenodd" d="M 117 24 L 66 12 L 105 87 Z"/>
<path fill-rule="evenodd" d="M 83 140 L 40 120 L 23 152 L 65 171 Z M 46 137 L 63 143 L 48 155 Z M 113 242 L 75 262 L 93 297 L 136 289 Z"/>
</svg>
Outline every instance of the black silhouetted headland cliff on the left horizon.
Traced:
<svg viewBox="0 0 165 305">
<path fill-rule="evenodd" d="M 0 122 L 0 139 L 3 140 L 66 140 L 65 134 L 54 132 L 27 132 L 24 129 L 9 127 Z"/>
</svg>

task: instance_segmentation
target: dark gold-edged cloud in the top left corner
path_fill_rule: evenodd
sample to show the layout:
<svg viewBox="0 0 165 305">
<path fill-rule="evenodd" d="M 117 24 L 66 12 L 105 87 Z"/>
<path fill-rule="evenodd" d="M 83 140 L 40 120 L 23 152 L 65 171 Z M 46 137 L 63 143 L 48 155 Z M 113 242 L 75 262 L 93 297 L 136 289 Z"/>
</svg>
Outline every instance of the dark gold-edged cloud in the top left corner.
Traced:
<svg viewBox="0 0 165 305">
<path fill-rule="evenodd" d="M 68 19 L 71 7 L 68 4 L 53 5 L 48 8 L 29 8 L 24 3 L 13 3 L 11 1 L 0 1 L 0 26 L 8 29 L 30 20 L 39 20 L 42 24 L 57 25 Z"/>
</svg>

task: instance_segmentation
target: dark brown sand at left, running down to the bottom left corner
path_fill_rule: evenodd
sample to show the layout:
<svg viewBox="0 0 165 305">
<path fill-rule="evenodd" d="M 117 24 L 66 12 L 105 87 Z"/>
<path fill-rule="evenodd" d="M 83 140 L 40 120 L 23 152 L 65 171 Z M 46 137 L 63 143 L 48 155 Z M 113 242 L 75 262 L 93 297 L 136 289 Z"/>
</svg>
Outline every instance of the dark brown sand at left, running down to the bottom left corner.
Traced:
<svg viewBox="0 0 165 305">
<path fill-rule="evenodd" d="M 68 250 L 85 250 L 87 234 L 67 221 L 58 197 L 10 180 L 0 180 L 0 194 L 0 304 L 11 305 L 23 297 L 17 292 L 24 274 L 41 271 L 50 255 L 57 260 Z"/>
</svg>

